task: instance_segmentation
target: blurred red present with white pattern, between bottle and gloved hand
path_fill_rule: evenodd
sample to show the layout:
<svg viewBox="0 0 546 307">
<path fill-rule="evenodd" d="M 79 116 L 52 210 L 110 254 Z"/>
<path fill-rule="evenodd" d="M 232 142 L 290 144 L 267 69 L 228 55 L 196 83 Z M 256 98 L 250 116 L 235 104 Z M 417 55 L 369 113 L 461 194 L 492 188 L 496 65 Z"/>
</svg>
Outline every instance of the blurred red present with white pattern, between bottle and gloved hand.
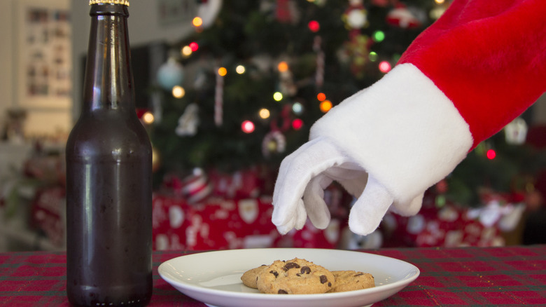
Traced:
<svg viewBox="0 0 546 307">
<path fill-rule="evenodd" d="M 300 231 L 281 236 L 271 222 L 270 196 L 207 198 L 190 204 L 185 198 L 155 194 L 153 247 L 155 250 L 228 250 L 254 247 L 335 248 L 346 219 L 332 216 L 322 230 L 307 223 Z"/>
</svg>

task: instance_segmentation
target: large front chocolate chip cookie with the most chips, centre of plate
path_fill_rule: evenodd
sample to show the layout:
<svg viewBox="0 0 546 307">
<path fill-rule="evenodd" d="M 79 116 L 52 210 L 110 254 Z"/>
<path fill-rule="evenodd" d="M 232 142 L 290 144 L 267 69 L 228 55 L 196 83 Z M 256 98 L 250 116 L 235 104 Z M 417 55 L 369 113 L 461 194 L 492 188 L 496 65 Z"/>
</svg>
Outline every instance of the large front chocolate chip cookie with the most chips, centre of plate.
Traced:
<svg viewBox="0 0 546 307">
<path fill-rule="evenodd" d="M 332 272 L 305 259 L 276 260 L 258 274 L 256 285 L 262 293 L 316 294 L 330 291 Z"/>
</svg>

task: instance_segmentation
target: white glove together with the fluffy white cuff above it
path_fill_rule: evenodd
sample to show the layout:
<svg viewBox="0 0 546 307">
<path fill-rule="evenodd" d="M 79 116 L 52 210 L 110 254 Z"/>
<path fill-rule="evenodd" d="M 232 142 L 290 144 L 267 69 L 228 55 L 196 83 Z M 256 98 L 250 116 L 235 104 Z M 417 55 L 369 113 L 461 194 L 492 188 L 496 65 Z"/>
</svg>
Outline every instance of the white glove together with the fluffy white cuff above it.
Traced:
<svg viewBox="0 0 546 307">
<path fill-rule="evenodd" d="M 325 114 L 310 141 L 283 160 L 272 222 L 282 234 L 301 229 L 307 216 L 325 228 L 323 190 L 335 180 L 357 198 L 351 231 L 372 233 L 391 205 L 398 214 L 416 214 L 426 189 L 449 175 L 471 145 L 451 101 L 419 69 L 399 65 Z"/>
</svg>

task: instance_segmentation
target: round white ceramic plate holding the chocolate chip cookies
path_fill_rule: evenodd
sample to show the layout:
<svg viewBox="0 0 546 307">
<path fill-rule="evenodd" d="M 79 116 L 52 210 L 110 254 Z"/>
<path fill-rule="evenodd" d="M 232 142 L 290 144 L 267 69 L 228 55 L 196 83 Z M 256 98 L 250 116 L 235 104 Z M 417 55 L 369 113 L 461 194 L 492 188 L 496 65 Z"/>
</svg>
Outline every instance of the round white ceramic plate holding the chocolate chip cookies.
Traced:
<svg viewBox="0 0 546 307">
<path fill-rule="evenodd" d="M 241 275 L 262 264 L 303 258 L 330 271 L 353 270 L 374 275 L 375 287 L 325 294 L 262 294 L 246 287 Z M 223 250 L 189 254 L 165 261 L 160 276 L 183 294 L 222 307 L 367 306 L 395 294 L 419 276 L 405 261 L 365 252 L 307 248 Z"/>
</svg>

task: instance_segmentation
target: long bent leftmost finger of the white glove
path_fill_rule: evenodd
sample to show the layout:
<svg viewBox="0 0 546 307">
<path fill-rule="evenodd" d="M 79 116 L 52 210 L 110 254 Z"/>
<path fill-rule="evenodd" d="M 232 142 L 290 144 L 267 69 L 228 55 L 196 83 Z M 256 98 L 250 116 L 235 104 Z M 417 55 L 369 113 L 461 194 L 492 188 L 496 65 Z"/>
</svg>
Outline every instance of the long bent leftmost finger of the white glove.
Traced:
<svg viewBox="0 0 546 307">
<path fill-rule="evenodd" d="M 304 190 L 314 176 L 339 163 L 343 157 L 330 142 L 313 139 L 283 159 L 273 191 L 272 222 L 286 226 L 297 214 L 297 205 Z M 302 214 L 298 214 L 301 224 Z M 296 223 L 294 223 L 295 226 Z"/>
</svg>

